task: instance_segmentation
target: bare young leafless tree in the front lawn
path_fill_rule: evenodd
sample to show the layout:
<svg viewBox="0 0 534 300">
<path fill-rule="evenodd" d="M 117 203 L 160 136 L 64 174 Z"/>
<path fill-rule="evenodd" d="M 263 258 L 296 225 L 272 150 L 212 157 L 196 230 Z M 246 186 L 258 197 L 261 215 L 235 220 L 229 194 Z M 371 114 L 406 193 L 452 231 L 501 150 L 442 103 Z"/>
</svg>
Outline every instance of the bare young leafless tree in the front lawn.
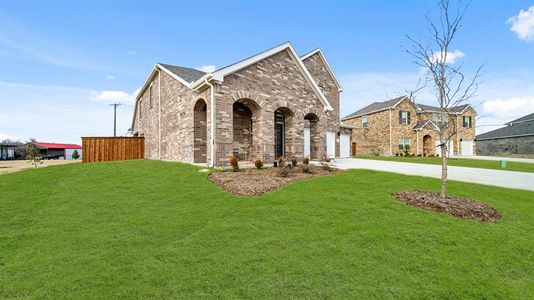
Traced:
<svg viewBox="0 0 534 300">
<path fill-rule="evenodd" d="M 424 82 L 433 89 L 439 103 L 440 112 L 435 123 L 441 148 L 440 195 L 443 198 L 447 188 L 447 147 L 449 141 L 458 134 L 457 118 L 452 109 L 469 103 L 478 89 L 482 69 L 482 66 L 478 67 L 472 78 L 468 79 L 462 71 L 463 64 L 453 64 L 454 57 L 450 48 L 469 7 L 469 3 L 463 3 L 461 0 L 455 4 L 453 7 L 449 0 L 440 0 L 439 17 L 432 19 L 429 15 L 426 16 L 428 41 L 422 42 L 407 36 L 412 48 L 406 51 L 413 58 L 413 63 L 424 71 Z M 420 83 L 421 81 L 416 90 L 420 90 Z"/>
</svg>

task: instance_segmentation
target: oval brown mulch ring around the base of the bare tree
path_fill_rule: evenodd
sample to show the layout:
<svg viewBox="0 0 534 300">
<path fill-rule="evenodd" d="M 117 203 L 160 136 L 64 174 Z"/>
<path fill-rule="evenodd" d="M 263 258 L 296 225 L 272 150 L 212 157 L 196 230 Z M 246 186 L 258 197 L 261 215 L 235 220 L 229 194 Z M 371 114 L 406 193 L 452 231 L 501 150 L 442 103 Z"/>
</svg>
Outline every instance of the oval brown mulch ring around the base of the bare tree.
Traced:
<svg viewBox="0 0 534 300">
<path fill-rule="evenodd" d="M 496 222 L 501 218 L 501 214 L 495 208 L 464 197 L 447 195 L 443 199 L 439 193 L 425 191 L 400 191 L 393 196 L 398 201 L 414 207 L 443 212 L 463 219 Z"/>
</svg>

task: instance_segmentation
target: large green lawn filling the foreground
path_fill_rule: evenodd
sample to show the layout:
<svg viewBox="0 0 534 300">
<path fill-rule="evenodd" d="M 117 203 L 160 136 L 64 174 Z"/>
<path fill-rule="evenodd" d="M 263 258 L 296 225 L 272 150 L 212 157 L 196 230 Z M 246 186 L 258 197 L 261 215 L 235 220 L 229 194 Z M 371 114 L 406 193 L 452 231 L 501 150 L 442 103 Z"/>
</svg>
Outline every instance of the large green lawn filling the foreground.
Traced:
<svg viewBox="0 0 534 300">
<path fill-rule="evenodd" d="M 534 193 L 450 182 L 477 223 L 396 202 L 439 181 L 366 170 L 235 197 L 198 168 L 0 176 L 0 298 L 533 298 Z"/>
</svg>

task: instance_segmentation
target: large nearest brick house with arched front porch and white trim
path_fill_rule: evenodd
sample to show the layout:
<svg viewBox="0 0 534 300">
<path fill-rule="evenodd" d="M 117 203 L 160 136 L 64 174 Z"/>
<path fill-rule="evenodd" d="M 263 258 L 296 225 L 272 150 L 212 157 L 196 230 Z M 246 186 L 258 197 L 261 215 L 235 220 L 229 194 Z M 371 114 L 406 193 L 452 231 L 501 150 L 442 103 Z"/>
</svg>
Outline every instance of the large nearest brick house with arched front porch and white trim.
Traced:
<svg viewBox="0 0 534 300">
<path fill-rule="evenodd" d="M 137 95 L 131 131 L 151 159 L 228 164 L 350 156 L 341 85 L 320 49 L 288 42 L 211 73 L 156 64 Z"/>
</svg>

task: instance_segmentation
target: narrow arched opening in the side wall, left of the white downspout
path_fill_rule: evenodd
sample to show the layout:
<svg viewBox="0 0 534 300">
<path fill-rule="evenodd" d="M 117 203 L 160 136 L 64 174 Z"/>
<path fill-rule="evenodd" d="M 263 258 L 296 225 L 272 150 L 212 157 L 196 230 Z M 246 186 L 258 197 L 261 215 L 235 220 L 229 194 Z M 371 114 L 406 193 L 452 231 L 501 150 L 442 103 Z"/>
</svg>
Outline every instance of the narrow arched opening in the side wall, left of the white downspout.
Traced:
<svg viewBox="0 0 534 300">
<path fill-rule="evenodd" d="M 207 162 L 208 134 L 206 108 L 206 101 L 199 99 L 193 109 L 193 162 L 195 163 Z"/>
</svg>

